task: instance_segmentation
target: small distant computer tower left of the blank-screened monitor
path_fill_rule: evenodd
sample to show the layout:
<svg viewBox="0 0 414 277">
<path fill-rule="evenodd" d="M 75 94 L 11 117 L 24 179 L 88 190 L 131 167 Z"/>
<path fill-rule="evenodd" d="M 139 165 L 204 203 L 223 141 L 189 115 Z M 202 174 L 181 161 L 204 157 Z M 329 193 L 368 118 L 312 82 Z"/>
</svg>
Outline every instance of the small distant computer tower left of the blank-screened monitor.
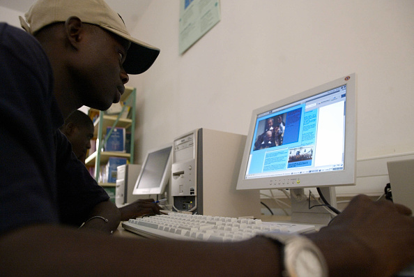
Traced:
<svg viewBox="0 0 414 277">
<path fill-rule="evenodd" d="M 115 204 L 129 204 L 142 198 L 141 195 L 132 195 L 141 165 L 119 165 L 116 173 Z"/>
</svg>

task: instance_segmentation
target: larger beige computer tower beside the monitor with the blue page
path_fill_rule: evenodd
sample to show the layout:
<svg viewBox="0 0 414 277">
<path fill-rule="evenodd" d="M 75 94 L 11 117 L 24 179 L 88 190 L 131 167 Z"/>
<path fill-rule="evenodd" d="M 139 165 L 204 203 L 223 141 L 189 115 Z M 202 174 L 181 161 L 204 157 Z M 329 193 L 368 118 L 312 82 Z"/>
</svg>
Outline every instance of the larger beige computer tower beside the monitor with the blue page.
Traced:
<svg viewBox="0 0 414 277">
<path fill-rule="evenodd" d="M 174 139 L 174 209 L 208 216 L 260 216 L 259 190 L 236 190 L 246 136 L 199 128 Z"/>
</svg>

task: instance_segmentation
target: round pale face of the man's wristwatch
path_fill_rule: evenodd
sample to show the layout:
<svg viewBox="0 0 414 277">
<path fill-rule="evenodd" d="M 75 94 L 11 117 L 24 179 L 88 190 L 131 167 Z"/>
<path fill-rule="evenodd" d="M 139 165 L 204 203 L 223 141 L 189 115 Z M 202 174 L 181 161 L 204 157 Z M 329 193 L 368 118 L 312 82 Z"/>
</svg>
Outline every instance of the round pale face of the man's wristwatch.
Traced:
<svg viewBox="0 0 414 277">
<path fill-rule="evenodd" d="M 296 276 L 323 276 L 321 261 L 310 249 L 300 250 L 293 263 Z"/>
</svg>

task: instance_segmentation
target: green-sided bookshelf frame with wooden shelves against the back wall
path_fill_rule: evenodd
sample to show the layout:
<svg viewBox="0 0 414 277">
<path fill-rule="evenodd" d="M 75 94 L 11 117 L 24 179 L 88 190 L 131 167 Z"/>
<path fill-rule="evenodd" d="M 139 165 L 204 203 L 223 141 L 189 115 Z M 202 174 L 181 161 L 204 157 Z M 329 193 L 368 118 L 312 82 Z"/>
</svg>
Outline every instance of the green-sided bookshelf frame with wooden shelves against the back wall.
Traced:
<svg viewBox="0 0 414 277">
<path fill-rule="evenodd" d="M 130 107 L 130 116 L 128 118 L 122 118 L 123 110 L 118 114 L 106 114 L 105 112 L 91 109 L 89 112 L 98 113 L 99 116 L 93 122 L 94 137 L 96 138 L 96 151 L 91 153 L 86 158 L 86 167 L 95 167 L 95 180 L 103 187 L 115 187 L 114 183 L 100 182 L 100 167 L 106 165 L 109 157 L 127 158 L 129 163 L 134 163 L 134 139 L 133 134 L 135 131 L 135 100 L 136 89 L 132 87 L 125 87 L 125 92 L 121 96 L 121 101 L 125 103 L 123 110 Z M 109 133 L 107 133 L 107 127 L 111 126 Z M 112 130 L 115 127 L 125 128 L 131 133 L 130 140 L 130 153 L 118 152 L 118 151 L 103 151 L 103 147 L 108 137 L 112 134 Z"/>
</svg>

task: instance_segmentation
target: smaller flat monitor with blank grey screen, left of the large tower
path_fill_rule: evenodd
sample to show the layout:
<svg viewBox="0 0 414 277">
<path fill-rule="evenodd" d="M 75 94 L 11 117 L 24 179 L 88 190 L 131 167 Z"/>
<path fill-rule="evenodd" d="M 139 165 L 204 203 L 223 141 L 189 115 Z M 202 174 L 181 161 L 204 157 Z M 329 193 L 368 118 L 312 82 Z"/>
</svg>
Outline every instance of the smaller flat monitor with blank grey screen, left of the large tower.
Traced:
<svg viewBox="0 0 414 277">
<path fill-rule="evenodd" d="M 164 193 L 164 188 L 171 175 L 171 149 L 172 144 L 147 152 L 132 194 Z"/>
</svg>

